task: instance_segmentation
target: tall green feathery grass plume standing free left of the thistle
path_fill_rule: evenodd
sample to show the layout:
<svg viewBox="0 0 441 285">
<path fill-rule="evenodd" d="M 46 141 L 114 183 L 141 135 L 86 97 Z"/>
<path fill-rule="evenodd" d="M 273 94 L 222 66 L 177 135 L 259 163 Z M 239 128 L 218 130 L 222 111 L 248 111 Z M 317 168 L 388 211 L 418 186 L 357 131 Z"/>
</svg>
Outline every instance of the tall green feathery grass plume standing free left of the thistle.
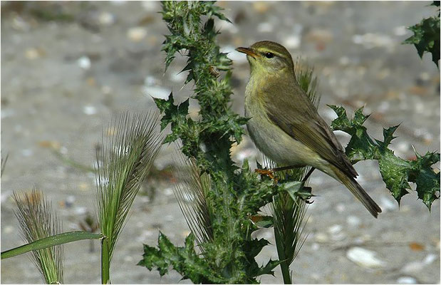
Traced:
<svg viewBox="0 0 441 285">
<path fill-rule="evenodd" d="M 141 182 L 160 150 L 163 138 L 156 130 L 158 115 L 123 113 L 108 128 L 112 137 L 98 150 L 97 157 L 103 157 L 102 164 L 98 160 L 96 177 L 98 216 L 108 243 L 107 268 Z"/>
</svg>

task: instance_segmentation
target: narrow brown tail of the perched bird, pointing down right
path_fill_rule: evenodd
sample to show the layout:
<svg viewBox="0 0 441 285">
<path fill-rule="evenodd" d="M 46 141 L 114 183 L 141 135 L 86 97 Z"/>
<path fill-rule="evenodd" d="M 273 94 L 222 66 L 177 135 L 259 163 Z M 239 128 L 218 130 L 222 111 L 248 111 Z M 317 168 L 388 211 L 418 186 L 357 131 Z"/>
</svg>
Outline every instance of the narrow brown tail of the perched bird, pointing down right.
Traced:
<svg viewBox="0 0 441 285">
<path fill-rule="evenodd" d="M 353 177 L 348 177 L 348 175 L 343 173 L 337 167 L 332 168 L 334 173 L 338 177 L 338 180 L 340 180 L 343 185 L 348 187 L 352 194 L 360 200 L 360 202 L 366 207 L 366 209 L 368 209 L 373 217 L 378 217 L 378 213 L 381 212 L 380 207 L 378 207 L 378 204 L 375 203 L 375 201 L 368 195 L 368 193 L 365 192 L 365 190 L 358 184 L 358 182 L 356 182 Z"/>
</svg>

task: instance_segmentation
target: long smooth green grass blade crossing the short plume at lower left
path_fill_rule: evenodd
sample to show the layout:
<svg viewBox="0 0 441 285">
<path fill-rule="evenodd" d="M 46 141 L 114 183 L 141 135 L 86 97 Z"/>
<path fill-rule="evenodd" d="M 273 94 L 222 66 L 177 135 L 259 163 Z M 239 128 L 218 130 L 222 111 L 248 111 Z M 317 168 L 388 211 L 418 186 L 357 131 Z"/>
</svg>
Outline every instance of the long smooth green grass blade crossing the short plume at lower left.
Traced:
<svg viewBox="0 0 441 285">
<path fill-rule="evenodd" d="M 68 242 L 76 242 L 82 239 L 101 239 L 103 234 L 93 234 L 90 232 L 63 232 L 63 234 L 56 234 L 51 237 L 45 237 L 44 239 L 37 239 L 30 244 L 24 244 L 21 247 L 6 250 L 1 252 L 1 259 L 7 259 L 9 257 L 15 257 L 16 255 L 25 254 L 32 250 L 46 249 L 47 247 L 53 247 L 59 244 L 67 244 Z"/>
</svg>

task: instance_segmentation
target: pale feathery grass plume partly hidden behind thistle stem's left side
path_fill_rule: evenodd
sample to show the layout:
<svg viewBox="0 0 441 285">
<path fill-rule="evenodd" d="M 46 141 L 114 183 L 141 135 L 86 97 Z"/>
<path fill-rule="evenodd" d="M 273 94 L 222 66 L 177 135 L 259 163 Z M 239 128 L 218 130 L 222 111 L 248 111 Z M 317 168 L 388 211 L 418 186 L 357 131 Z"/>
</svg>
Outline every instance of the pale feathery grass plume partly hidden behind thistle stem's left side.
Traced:
<svg viewBox="0 0 441 285">
<path fill-rule="evenodd" d="M 187 167 L 185 170 L 182 167 L 175 168 L 176 180 L 180 183 L 174 185 L 173 192 L 197 244 L 202 245 L 213 238 L 214 210 L 207 200 L 210 178 L 207 173 L 200 173 L 194 158 L 186 159 L 182 153 L 179 157 L 181 164 Z"/>
</svg>

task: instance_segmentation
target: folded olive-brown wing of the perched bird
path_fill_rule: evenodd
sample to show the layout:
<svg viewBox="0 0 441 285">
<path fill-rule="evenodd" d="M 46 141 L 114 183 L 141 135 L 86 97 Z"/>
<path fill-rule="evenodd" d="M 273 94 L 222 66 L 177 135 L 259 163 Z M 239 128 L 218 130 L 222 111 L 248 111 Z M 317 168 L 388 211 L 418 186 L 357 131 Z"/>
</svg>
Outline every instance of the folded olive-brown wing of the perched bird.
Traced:
<svg viewBox="0 0 441 285">
<path fill-rule="evenodd" d="M 295 83 L 282 83 L 266 89 L 266 114 L 285 133 L 311 148 L 324 160 L 338 167 L 350 177 L 358 174 L 346 156 L 336 135 L 318 115 L 308 95 Z M 290 90 L 291 96 L 281 96 Z M 276 91 L 276 92 L 274 92 Z M 269 94 L 269 93 L 267 93 Z"/>
</svg>

